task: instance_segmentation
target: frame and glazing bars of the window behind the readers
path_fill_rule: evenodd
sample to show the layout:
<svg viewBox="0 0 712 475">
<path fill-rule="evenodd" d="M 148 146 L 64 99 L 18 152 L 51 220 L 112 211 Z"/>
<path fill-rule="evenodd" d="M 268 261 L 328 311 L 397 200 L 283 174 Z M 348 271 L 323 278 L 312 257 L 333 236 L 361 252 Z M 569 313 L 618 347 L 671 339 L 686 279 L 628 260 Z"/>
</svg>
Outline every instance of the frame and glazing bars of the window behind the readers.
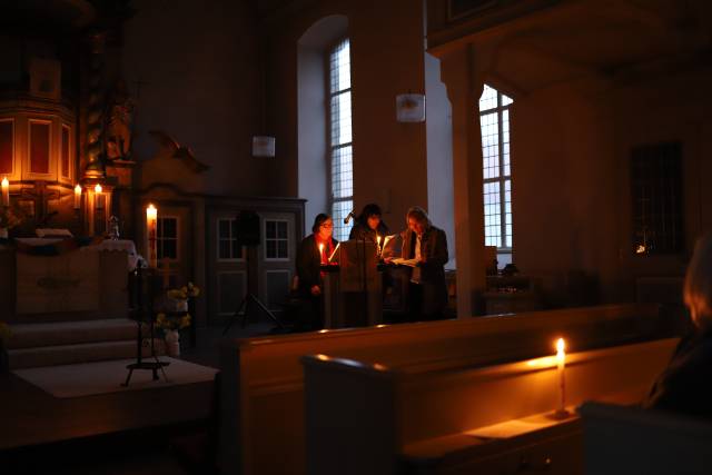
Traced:
<svg viewBox="0 0 712 475">
<path fill-rule="evenodd" d="M 344 42 L 348 42 L 348 71 L 349 71 L 349 81 L 348 85 L 349 87 L 346 89 L 342 89 L 337 92 L 332 92 L 332 56 L 335 53 L 335 51 L 338 49 L 338 47 L 340 44 L 343 44 Z M 350 232 L 350 228 L 353 227 L 353 222 L 349 225 L 342 225 L 343 224 L 343 219 L 346 217 L 345 216 L 335 216 L 334 212 L 334 207 L 336 204 L 338 202 L 350 202 L 350 207 L 353 209 L 354 207 L 354 129 L 353 129 L 353 125 L 354 125 L 354 96 L 353 96 L 353 78 L 352 78 L 352 55 L 350 55 L 350 38 L 348 36 L 344 36 L 340 37 L 338 40 L 334 41 L 329 48 L 327 49 L 326 52 L 326 86 L 325 86 L 325 90 L 326 90 L 326 117 L 327 117 L 327 123 L 326 123 L 326 135 L 327 135 L 327 157 L 326 157 L 326 164 L 328 167 L 328 172 L 327 172 L 327 189 L 329 190 L 329 195 L 328 195 L 328 209 L 329 209 L 329 215 L 332 216 L 332 219 L 334 220 L 334 229 L 336 230 L 345 228 L 345 236 L 346 239 L 348 238 L 348 234 Z M 349 113 L 349 122 L 350 122 L 350 128 L 352 128 L 352 139 L 348 142 L 345 144 L 339 144 L 339 145 L 334 145 L 333 142 L 333 130 L 334 130 L 334 122 L 332 121 L 332 103 L 334 98 L 344 95 L 348 92 L 349 98 L 350 98 L 350 113 Z M 350 147 L 352 154 L 350 154 L 350 161 L 352 161 L 352 172 L 350 172 L 350 188 L 352 188 L 352 194 L 347 197 L 339 197 L 336 198 L 334 196 L 334 179 L 333 179 L 333 170 L 334 170 L 334 154 L 337 150 L 344 149 Z M 350 209 L 349 209 L 350 211 Z M 348 212 L 348 211 L 347 211 Z M 340 236 L 335 236 L 337 239 Z M 344 239 L 344 240 L 346 240 Z"/>
</svg>

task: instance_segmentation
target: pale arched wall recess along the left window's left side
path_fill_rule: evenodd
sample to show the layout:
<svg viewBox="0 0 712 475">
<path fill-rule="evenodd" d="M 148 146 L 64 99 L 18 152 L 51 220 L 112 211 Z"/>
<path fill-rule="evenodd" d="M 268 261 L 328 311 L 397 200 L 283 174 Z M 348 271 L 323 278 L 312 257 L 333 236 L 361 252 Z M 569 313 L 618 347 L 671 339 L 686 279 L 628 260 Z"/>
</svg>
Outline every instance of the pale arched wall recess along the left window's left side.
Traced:
<svg viewBox="0 0 712 475">
<path fill-rule="evenodd" d="M 319 212 L 328 212 L 326 55 L 346 37 L 348 18 L 335 14 L 309 27 L 297 43 L 298 192 L 305 198 L 306 229 Z"/>
</svg>

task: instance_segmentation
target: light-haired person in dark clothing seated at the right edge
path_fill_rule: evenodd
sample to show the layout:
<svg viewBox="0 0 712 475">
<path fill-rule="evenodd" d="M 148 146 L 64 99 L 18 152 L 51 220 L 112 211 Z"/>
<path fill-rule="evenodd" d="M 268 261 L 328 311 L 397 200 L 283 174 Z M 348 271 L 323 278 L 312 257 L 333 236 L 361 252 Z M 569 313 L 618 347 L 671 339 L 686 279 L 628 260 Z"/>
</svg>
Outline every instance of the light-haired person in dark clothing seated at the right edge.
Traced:
<svg viewBox="0 0 712 475">
<path fill-rule="evenodd" d="M 712 235 L 695 246 L 683 297 L 692 333 L 680 342 L 643 406 L 712 418 Z"/>
</svg>

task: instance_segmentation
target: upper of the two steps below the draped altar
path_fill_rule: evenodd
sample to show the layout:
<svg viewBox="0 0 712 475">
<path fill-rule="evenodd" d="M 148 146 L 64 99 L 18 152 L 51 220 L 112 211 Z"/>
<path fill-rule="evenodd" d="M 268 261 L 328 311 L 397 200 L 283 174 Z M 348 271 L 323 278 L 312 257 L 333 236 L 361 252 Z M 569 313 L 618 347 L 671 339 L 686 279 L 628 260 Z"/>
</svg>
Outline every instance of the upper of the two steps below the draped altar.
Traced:
<svg viewBox="0 0 712 475">
<path fill-rule="evenodd" d="M 136 338 L 136 321 L 128 318 L 46 324 L 11 324 L 8 349 L 82 343 L 117 342 Z M 156 331 L 159 335 L 159 330 Z"/>
</svg>

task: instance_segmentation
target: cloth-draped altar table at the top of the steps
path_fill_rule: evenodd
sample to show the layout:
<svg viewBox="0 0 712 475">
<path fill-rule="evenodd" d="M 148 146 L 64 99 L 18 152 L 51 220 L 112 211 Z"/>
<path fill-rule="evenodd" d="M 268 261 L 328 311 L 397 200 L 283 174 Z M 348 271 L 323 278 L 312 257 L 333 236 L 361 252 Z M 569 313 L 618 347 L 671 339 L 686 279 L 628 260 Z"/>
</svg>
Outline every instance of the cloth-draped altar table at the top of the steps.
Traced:
<svg viewBox="0 0 712 475">
<path fill-rule="evenodd" d="M 57 253 L 34 251 L 48 246 Z M 2 319 L 125 318 L 128 271 L 137 259 L 130 240 L 76 246 L 70 239 L 31 238 L 4 245 L 0 248 L 0 305 L 8 315 Z"/>
</svg>

